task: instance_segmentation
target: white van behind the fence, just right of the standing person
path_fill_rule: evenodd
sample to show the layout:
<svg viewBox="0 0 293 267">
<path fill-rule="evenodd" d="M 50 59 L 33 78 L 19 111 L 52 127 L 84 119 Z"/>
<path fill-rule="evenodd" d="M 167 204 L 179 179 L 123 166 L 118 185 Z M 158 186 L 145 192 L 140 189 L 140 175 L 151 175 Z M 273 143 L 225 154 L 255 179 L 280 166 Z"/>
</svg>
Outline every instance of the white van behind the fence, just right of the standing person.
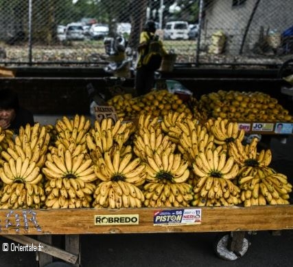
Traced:
<svg viewBox="0 0 293 267">
<path fill-rule="evenodd" d="M 164 39 L 183 39 L 188 40 L 189 28 L 187 21 L 170 21 L 167 22 L 164 29 Z"/>
</svg>

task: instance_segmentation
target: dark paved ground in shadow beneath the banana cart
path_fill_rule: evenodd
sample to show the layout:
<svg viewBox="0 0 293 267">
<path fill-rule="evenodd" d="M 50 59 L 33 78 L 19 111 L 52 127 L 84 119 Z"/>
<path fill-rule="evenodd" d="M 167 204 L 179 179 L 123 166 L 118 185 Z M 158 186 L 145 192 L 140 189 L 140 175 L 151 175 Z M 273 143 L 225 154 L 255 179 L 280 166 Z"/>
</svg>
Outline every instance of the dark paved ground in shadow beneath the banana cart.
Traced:
<svg viewBox="0 0 293 267">
<path fill-rule="evenodd" d="M 221 233 L 222 234 L 222 233 Z M 214 253 L 218 233 L 82 235 L 82 267 L 291 267 L 293 231 L 249 235 L 250 246 L 235 261 Z M 0 237 L 0 244 L 10 240 Z M 1 250 L 1 246 L 0 246 Z M 36 266 L 34 253 L 0 253 L 0 267 Z M 58 266 L 63 267 L 63 266 Z"/>
</svg>

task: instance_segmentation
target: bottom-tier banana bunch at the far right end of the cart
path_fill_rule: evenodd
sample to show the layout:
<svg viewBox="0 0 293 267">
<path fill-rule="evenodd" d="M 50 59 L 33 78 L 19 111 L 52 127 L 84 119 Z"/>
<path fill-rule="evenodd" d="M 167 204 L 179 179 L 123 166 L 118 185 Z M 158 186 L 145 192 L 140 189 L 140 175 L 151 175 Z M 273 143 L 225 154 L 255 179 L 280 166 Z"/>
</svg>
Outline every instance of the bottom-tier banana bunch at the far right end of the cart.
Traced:
<svg viewBox="0 0 293 267">
<path fill-rule="evenodd" d="M 254 175 L 239 178 L 240 197 L 244 206 L 290 204 L 292 184 L 286 175 L 269 167 L 253 167 Z"/>
</svg>

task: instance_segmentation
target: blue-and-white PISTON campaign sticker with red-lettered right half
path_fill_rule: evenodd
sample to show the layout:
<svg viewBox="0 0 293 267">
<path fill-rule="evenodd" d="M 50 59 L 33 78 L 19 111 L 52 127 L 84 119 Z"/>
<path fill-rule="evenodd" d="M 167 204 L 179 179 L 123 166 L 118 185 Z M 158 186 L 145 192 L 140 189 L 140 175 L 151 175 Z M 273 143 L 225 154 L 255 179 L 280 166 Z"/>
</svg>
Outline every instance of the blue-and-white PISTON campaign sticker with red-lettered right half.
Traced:
<svg viewBox="0 0 293 267">
<path fill-rule="evenodd" d="M 201 209 L 154 211 L 154 226 L 201 224 Z"/>
</svg>

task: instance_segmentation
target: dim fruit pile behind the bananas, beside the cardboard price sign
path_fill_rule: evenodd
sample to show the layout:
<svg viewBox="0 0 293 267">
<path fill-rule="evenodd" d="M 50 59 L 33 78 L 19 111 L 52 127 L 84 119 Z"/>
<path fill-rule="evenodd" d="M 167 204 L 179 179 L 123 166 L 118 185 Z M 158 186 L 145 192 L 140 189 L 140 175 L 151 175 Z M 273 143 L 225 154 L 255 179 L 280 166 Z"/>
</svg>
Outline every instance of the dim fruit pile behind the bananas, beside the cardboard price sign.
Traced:
<svg viewBox="0 0 293 267">
<path fill-rule="evenodd" d="M 178 95 L 167 90 L 154 90 L 148 94 L 132 97 L 131 94 L 117 95 L 107 101 L 115 107 L 119 118 L 138 118 L 140 114 L 152 114 L 160 117 L 169 111 L 185 112 L 192 116 L 191 109 Z"/>
</svg>

